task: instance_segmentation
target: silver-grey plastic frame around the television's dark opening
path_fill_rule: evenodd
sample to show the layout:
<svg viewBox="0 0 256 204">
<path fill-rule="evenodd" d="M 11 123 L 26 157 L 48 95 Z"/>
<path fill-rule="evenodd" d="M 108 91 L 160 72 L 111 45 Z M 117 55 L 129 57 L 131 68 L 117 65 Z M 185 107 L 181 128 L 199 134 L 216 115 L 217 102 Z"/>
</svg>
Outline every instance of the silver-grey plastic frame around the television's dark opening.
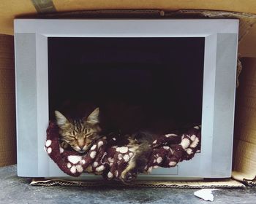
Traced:
<svg viewBox="0 0 256 204">
<path fill-rule="evenodd" d="M 48 37 L 204 37 L 200 154 L 142 179 L 230 177 L 238 20 L 15 20 L 18 176 L 66 177 L 44 151 Z M 68 176 L 71 178 L 70 176 Z M 86 173 L 83 179 L 99 178 Z"/>
</svg>

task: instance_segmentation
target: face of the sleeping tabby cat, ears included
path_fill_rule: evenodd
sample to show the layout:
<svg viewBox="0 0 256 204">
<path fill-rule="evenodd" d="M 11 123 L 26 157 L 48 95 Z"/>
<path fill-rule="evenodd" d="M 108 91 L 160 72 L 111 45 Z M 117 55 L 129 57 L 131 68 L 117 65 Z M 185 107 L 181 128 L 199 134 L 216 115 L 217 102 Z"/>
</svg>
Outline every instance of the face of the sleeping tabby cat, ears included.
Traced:
<svg viewBox="0 0 256 204">
<path fill-rule="evenodd" d="M 67 119 L 59 111 L 55 111 L 56 122 L 59 125 L 61 141 L 83 153 L 99 138 L 99 108 L 95 109 L 89 117 L 83 119 Z"/>
</svg>

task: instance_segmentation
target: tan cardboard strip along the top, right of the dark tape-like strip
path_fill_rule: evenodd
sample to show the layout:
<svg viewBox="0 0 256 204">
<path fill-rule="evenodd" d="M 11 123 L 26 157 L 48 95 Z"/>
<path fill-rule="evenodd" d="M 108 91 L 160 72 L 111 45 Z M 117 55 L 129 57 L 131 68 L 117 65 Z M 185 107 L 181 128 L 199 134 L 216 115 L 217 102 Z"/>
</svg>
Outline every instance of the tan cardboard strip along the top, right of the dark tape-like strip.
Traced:
<svg viewBox="0 0 256 204">
<path fill-rule="evenodd" d="M 75 2 L 72 0 L 53 0 L 53 4 L 59 12 L 84 9 L 211 9 L 256 13 L 256 1 L 254 0 L 77 0 Z"/>
</svg>

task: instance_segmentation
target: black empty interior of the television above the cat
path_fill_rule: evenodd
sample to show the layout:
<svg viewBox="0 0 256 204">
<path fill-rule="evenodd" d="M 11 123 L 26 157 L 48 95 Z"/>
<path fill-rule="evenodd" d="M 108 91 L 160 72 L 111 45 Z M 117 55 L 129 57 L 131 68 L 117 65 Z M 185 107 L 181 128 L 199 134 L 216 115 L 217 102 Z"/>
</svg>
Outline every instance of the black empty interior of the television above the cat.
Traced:
<svg viewBox="0 0 256 204">
<path fill-rule="evenodd" d="M 67 101 L 89 101 L 108 114 L 115 107 L 119 117 L 128 112 L 137 125 L 137 118 L 143 125 L 152 120 L 200 124 L 204 42 L 197 37 L 49 37 L 50 119 Z"/>
</svg>

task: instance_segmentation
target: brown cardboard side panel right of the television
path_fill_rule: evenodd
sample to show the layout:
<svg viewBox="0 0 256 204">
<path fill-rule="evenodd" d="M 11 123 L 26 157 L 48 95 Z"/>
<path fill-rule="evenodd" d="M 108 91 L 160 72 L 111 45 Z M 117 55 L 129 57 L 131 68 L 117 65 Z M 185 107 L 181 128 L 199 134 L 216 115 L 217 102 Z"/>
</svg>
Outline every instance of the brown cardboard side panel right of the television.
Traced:
<svg viewBox="0 0 256 204">
<path fill-rule="evenodd" d="M 242 64 L 233 148 L 233 178 L 241 181 L 256 176 L 256 58 L 244 58 Z"/>
</svg>

